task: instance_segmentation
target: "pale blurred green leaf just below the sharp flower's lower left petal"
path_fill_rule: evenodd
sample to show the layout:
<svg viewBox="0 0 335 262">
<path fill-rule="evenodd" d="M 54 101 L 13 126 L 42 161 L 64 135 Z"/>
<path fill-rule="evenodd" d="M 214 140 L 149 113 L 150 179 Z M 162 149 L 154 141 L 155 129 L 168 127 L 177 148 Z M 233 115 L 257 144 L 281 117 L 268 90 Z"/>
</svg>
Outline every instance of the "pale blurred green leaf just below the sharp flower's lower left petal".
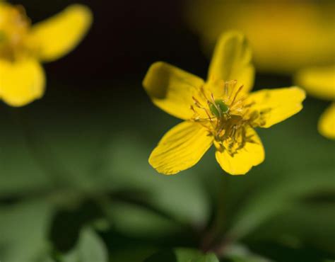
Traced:
<svg viewBox="0 0 335 262">
<path fill-rule="evenodd" d="M 204 227 L 210 205 L 199 176 L 192 170 L 184 171 L 180 176 L 156 173 L 148 164 L 150 151 L 134 135 L 114 137 L 105 156 L 103 184 L 112 190 L 140 191 L 143 193 L 139 196 L 141 200 L 167 212 L 175 220 Z"/>
</svg>

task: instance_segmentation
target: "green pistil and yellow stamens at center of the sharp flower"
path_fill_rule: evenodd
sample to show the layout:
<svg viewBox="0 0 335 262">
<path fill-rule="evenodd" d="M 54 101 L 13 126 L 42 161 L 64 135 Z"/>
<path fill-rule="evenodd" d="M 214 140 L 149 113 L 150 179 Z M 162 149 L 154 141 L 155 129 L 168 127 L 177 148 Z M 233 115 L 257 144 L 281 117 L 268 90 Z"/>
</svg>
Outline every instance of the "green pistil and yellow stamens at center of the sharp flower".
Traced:
<svg viewBox="0 0 335 262">
<path fill-rule="evenodd" d="M 213 136 L 218 150 L 227 149 L 230 154 L 244 147 L 249 141 L 246 128 L 251 125 L 250 118 L 246 117 L 249 106 L 242 96 L 242 86 L 236 88 L 236 81 L 228 81 L 221 85 L 222 95 L 214 97 L 211 91 L 201 88 L 198 97 L 193 97 L 194 111 L 192 120 L 203 125 Z M 220 86 L 218 87 L 220 91 Z"/>
</svg>

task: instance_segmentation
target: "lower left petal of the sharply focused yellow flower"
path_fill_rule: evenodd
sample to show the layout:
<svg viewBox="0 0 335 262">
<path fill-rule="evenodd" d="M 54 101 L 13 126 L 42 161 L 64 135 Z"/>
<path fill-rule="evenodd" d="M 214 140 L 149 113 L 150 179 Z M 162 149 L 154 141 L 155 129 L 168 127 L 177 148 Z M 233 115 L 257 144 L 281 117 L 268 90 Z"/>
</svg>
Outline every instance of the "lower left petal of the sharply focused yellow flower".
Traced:
<svg viewBox="0 0 335 262">
<path fill-rule="evenodd" d="M 212 143 L 213 138 L 204 127 L 185 121 L 163 136 L 149 163 L 158 173 L 172 175 L 194 166 Z"/>
</svg>

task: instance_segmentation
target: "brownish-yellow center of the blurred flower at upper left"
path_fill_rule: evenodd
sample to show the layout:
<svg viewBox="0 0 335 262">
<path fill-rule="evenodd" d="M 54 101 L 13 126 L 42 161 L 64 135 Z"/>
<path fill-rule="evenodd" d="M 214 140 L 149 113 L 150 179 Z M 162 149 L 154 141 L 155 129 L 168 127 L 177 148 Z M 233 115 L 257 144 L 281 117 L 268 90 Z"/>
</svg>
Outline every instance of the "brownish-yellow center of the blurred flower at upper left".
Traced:
<svg viewBox="0 0 335 262">
<path fill-rule="evenodd" d="M 20 55 L 29 28 L 23 7 L 0 4 L 0 59 L 13 60 Z"/>
</svg>

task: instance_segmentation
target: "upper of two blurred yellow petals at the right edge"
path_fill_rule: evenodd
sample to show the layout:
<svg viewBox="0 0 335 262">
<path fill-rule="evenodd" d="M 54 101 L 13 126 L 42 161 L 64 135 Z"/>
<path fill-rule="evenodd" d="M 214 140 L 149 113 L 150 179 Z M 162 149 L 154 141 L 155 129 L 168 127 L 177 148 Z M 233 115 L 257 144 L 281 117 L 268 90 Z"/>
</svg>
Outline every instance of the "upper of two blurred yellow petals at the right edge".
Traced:
<svg viewBox="0 0 335 262">
<path fill-rule="evenodd" d="M 310 67 L 295 76 L 295 82 L 318 98 L 335 100 L 335 66 Z"/>
</svg>

